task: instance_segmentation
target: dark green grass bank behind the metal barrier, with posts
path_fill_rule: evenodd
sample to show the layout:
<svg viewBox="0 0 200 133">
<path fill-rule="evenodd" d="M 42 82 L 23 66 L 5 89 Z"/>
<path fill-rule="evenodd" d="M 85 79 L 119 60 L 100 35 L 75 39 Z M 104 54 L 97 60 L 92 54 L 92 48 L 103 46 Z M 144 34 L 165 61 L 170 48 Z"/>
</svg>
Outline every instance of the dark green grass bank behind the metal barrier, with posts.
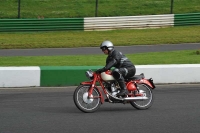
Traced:
<svg viewBox="0 0 200 133">
<path fill-rule="evenodd" d="M 18 0 L 0 0 L 0 18 L 17 18 Z M 21 18 L 94 17 L 96 0 L 21 0 Z M 174 0 L 173 13 L 200 12 L 199 0 Z M 99 0 L 98 16 L 169 14 L 171 0 Z"/>
</svg>

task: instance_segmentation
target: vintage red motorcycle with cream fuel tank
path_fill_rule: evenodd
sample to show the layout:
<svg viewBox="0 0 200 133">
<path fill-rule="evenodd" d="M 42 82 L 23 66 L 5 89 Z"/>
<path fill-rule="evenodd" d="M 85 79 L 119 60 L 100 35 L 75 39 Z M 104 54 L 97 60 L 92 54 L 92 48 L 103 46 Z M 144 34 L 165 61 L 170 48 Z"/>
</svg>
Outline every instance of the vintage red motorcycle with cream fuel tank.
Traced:
<svg viewBox="0 0 200 133">
<path fill-rule="evenodd" d="M 83 112 L 95 112 L 104 101 L 109 103 L 130 103 L 134 108 L 139 110 L 148 109 L 153 104 L 154 97 L 152 90 L 155 88 L 155 85 L 153 79 L 146 79 L 143 73 L 125 79 L 128 89 L 126 97 L 117 96 L 120 87 L 113 78 L 110 70 L 101 74 L 89 70 L 86 71 L 86 76 L 90 81 L 82 82 L 75 89 L 73 95 L 76 107 Z M 99 83 L 98 86 L 97 83 Z M 100 90 L 100 87 L 103 91 Z M 102 95 L 103 93 L 106 96 L 105 100 Z"/>
</svg>

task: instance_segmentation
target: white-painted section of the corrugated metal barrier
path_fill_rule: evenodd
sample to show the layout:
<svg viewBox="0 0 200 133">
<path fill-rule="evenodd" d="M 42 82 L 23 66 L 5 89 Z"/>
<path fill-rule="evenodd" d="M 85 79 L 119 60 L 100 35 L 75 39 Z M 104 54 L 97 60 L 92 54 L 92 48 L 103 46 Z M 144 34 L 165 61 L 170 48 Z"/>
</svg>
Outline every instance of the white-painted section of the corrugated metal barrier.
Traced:
<svg viewBox="0 0 200 133">
<path fill-rule="evenodd" d="M 173 25 L 173 14 L 84 18 L 84 30 L 159 28 Z"/>
</svg>

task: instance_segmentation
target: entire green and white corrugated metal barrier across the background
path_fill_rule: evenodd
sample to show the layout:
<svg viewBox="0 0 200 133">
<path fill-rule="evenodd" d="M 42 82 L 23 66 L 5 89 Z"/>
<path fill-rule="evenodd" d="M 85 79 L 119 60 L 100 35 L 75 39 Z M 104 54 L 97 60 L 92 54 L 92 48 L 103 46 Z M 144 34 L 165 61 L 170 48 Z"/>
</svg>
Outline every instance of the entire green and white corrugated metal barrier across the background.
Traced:
<svg viewBox="0 0 200 133">
<path fill-rule="evenodd" d="M 0 19 L 0 32 L 110 30 L 200 25 L 200 13 L 121 17 Z"/>
</svg>

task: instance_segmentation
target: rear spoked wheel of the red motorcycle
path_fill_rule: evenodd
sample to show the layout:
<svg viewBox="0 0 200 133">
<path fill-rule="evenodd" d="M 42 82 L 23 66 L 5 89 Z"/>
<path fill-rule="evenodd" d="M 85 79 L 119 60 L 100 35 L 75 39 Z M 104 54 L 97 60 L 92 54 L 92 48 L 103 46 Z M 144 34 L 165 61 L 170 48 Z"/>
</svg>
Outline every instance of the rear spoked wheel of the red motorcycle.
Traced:
<svg viewBox="0 0 200 133">
<path fill-rule="evenodd" d="M 142 94 L 142 96 L 146 97 L 147 99 L 140 100 L 140 101 L 131 101 L 130 104 L 135 107 L 136 109 L 144 110 L 148 109 L 153 104 L 153 91 L 152 89 L 145 85 L 145 84 L 137 84 L 139 87 L 139 94 Z"/>
</svg>

